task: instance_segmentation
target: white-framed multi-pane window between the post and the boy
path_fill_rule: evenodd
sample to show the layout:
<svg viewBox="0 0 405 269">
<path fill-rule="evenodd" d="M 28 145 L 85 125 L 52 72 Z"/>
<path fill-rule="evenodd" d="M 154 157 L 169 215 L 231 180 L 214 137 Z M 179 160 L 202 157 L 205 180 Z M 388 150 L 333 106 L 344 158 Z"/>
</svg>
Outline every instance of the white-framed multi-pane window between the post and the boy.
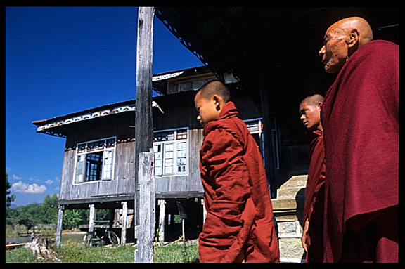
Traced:
<svg viewBox="0 0 405 269">
<path fill-rule="evenodd" d="M 188 173 L 188 129 L 155 132 L 153 151 L 156 176 Z"/>
</svg>

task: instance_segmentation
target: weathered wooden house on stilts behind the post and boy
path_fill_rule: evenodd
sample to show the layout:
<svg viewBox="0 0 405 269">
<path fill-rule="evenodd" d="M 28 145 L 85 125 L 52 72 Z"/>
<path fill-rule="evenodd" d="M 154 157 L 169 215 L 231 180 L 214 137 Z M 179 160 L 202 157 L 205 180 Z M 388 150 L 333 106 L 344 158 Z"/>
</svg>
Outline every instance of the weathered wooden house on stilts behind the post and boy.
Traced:
<svg viewBox="0 0 405 269">
<path fill-rule="evenodd" d="M 231 73 L 224 77 L 240 117 L 258 145 L 264 147 L 259 107 Z M 160 219 L 156 228 L 161 240 L 181 235 L 180 215 L 186 218 L 186 238 L 196 238 L 203 225 L 203 185 L 198 167 L 203 129 L 196 119 L 194 97 L 196 90 L 212 79 L 216 77 L 207 67 L 153 76 L 153 87 L 159 94 L 153 98 L 153 148 Z M 66 209 L 90 208 L 91 220 L 96 209 L 123 209 L 125 215 L 133 214 L 135 113 L 136 101 L 129 100 L 33 122 L 37 132 L 66 139 L 59 223 Z M 94 223 L 89 223 L 91 227 Z M 127 242 L 134 238 L 133 227 L 127 223 L 128 229 L 122 233 Z"/>
</svg>

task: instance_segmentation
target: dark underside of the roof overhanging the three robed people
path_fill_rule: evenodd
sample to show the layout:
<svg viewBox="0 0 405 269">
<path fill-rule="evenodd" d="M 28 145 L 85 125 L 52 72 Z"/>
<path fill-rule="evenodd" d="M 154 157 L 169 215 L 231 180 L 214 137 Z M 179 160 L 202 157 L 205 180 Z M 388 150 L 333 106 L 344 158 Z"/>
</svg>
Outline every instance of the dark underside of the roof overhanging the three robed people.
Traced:
<svg viewBox="0 0 405 269">
<path fill-rule="evenodd" d="M 374 39 L 399 44 L 398 7 L 156 7 L 155 15 L 181 44 L 221 78 L 232 72 L 253 98 L 265 88 L 274 110 L 297 110 L 302 98 L 325 93 L 334 77 L 318 51 L 326 29 L 358 15 Z"/>
</svg>

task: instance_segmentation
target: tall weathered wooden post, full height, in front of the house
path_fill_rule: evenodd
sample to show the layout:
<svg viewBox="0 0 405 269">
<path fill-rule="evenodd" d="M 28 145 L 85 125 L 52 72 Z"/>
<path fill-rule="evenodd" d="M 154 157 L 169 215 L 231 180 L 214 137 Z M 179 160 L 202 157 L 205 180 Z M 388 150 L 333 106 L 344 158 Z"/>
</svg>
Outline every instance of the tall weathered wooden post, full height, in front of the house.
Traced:
<svg viewBox="0 0 405 269">
<path fill-rule="evenodd" d="M 153 155 L 152 63 L 154 15 L 155 8 L 139 7 L 138 37 L 136 41 L 134 212 L 135 236 L 138 242 L 135 261 L 139 263 L 153 262 L 153 234 L 155 232 L 155 171 L 153 169 L 153 156 L 150 156 L 150 154 Z M 142 160 L 140 161 L 139 158 Z M 142 185 L 140 186 L 140 184 Z M 147 193 L 145 188 L 150 190 L 148 197 L 141 197 L 139 190 L 143 190 L 142 192 L 145 194 Z M 151 219 L 152 217 L 153 219 Z"/>
</svg>

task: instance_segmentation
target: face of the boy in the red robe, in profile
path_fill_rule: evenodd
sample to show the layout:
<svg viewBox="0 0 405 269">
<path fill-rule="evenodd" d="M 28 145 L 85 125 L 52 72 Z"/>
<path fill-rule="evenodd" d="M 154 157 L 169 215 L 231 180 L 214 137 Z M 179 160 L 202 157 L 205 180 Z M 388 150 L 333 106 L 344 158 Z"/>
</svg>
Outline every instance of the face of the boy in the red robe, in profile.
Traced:
<svg viewBox="0 0 405 269">
<path fill-rule="evenodd" d="M 200 98 L 200 92 L 194 98 L 195 109 L 198 112 L 197 120 L 203 127 L 208 122 L 217 121 L 219 119 L 219 102 L 217 96 L 212 96 L 212 98 Z"/>
</svg>

